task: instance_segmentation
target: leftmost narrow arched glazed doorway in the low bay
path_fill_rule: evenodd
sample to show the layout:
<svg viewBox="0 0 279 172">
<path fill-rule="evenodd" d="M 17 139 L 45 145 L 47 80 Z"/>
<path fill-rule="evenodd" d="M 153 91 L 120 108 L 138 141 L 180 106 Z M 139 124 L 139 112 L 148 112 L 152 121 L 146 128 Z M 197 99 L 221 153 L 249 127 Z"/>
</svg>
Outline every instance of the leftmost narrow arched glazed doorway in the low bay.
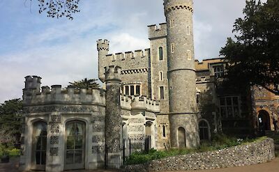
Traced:
<svg viewBox="0 0 279 172">
<path fill-rule="evenodd" d="M 31 169 L 45 170 L 47 150 L 47 123 L 33 123 Z"/>
</svg>

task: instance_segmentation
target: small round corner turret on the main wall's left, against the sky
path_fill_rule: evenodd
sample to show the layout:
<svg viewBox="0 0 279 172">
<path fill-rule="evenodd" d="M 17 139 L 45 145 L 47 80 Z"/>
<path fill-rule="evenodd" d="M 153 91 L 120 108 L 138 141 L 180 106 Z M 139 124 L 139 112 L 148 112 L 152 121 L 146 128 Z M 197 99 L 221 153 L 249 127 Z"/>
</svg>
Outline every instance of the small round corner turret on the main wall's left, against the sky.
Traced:
<svg viewBox="0 0 279 172">
<path fill-rule="evenodd" d="M 107 56 L 110 49 L 110 41 L 108 40 L 97 40 L 98 50 L 98 76 L 100 81 L 105 81 L 105 56 Z"/>
</svg>

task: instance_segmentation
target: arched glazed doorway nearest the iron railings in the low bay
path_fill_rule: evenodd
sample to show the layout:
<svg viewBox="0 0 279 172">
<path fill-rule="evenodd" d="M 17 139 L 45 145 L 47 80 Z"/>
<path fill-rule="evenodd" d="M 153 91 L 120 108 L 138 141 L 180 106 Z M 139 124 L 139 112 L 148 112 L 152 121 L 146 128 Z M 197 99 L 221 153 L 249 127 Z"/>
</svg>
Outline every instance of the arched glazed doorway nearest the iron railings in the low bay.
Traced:
<svg viewBox="0 0 279 172">
<path fill-rule="evenodd" d="M 84 169 L 85 123 L 73 120 L 66 123 L 65 170 Z"/>
</svg>

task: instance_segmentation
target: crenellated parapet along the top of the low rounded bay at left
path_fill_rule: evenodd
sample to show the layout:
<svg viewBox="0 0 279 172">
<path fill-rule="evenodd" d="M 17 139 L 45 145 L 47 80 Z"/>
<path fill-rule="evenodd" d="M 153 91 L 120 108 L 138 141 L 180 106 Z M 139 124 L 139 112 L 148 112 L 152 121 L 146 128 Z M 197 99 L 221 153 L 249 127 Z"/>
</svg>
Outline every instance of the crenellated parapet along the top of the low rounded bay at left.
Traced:
<svg viewBox="0 0 279 172">
<path fill-rule="evenodd" d="M 100 105 L 105 107 L 105 91 L 103 89 L 76 89 L 68 86 L 62 89 L 61 85 L 43 86 L 42 91 L 26 92 L 28 88 L 24 88 L 23 104 L 29 105 L 45 105 L 45 104 L 88 104 Z M 28 93 L 28 94 L 27 94 Z"/>
</svg>

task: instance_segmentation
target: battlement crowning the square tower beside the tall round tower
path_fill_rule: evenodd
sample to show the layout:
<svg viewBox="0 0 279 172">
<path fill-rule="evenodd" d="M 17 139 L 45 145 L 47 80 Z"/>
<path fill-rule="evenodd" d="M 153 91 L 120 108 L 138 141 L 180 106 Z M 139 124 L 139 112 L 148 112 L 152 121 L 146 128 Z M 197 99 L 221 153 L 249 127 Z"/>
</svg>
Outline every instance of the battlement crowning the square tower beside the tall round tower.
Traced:
<svg viewBox="0 0 279 172">
<path fill-rule="evenodd" d="M 160 39 L 167 36 L 167 23 L 161 23 L 159 25 L 153 24 L 148 26 L 149 28 L 149 40 Z"/>
</svg>

